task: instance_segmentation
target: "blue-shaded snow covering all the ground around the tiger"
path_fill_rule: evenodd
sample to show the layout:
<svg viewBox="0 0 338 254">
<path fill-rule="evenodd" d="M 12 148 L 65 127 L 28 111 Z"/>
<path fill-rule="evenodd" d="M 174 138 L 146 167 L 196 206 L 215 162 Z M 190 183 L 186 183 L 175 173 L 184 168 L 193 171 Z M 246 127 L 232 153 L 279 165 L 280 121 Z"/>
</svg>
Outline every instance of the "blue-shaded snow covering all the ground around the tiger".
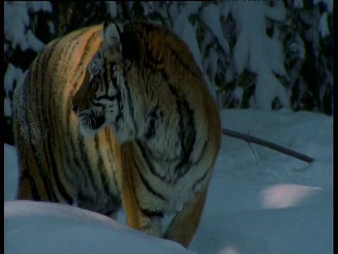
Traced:
<svg viewBox="0 0 338 254">
<path fill-rule="evenodd" d="M 224 128 L 302 152 L 315 162 L 307 164 L 223 136 L 201 225 L 189 249 L 223 254 L 333 253 L 332 117 L 256 109 L 227 109 L 221 114 Z M 4 158 L 6 254 L 191 253 L 94 212 L 13 200 L 18 177 L 14 147 L 4 145 Z"/>
</svg>

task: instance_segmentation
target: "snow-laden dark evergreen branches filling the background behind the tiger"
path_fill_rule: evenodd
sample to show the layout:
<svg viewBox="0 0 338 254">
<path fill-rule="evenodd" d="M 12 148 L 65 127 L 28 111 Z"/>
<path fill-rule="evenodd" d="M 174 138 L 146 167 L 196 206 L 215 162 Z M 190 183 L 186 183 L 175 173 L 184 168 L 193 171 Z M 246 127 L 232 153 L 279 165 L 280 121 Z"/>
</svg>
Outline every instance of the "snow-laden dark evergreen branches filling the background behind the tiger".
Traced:
<svg viewBox="0 0 338 254">
<path fill-rule="evenodd" d="M 4 4 L 7 116 L 13 88 L 29 66 L 17 56 L 44 47 L 48 41 L 37 36 L 43 24 L 59 36 L 58 15 L 54 20 L 36 15 L 56 13 L 55 6 L 47 1 Z M 291 107 L 332 114 L 332 0 L 107 1 L 87 3 L 83 10 L 77 15 L 80 26 L 110 17 L 148 20 L 173 30 L 188 44 L 220 108 Z"/>
</svg>

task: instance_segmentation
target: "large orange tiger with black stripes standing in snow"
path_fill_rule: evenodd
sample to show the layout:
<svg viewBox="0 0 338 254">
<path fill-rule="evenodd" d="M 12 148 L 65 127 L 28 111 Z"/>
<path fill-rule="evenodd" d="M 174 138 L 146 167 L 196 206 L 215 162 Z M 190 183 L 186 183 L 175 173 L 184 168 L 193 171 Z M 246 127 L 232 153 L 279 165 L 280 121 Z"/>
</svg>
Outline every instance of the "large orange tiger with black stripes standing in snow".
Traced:
<svg viewBox="0 0 338 254">
<path fill-rule="evenodd" d="M 63 202 L 188 248 L 220 150 L 185 42 L 138 20 L 51 41 L 13 94 L 20 200 Z M 172 216 L 166 229 L 163 218 Z"/>
</svg>

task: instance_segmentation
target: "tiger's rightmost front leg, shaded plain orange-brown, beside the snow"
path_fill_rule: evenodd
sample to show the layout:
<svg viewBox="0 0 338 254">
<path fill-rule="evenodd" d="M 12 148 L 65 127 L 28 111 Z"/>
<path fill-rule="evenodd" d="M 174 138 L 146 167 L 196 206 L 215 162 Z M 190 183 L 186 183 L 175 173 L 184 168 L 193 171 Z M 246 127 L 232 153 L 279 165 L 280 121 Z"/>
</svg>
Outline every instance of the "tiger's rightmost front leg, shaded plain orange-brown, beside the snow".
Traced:
<svg viewBox="0 0 338 254">
<path fill-rule="evenodd" d="M 182 211 L 178 212 L 170 222 L 163 238 L 181 243 L 186 248 L 189 246 L 201 220 L 207 187 L 197 193 L 191 202 L 184 204 Z"/>
</svg>

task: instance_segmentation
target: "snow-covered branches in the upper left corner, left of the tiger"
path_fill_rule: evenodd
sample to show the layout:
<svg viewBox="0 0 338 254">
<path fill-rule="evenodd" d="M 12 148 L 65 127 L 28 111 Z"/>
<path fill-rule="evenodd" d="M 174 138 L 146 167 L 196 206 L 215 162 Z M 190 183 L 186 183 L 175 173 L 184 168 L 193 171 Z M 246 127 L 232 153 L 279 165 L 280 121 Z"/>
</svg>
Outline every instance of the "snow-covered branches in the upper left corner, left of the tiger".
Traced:
<svg viewBox="0 0 338 254">
<path fill-rule="evenodd" d="M 22 52 L 39 52 L 45 44 L 39 40 L 37 32 L 36 13 L 51 13 L 49 1 L 11 1 L 4 2 L 4 52 L 6 73 L 4 77 L 4 115 L 11 116 L 11 100 L 15 85 L 23 82 L 24 71 Z M 52 23 L 48 23 L 51 32 L 54 30 Z M 17 63 L 11 62 L 15 54 L 21 55 Z M 29 66 L 30 63 L 28 63 Z"/>
</svg>

